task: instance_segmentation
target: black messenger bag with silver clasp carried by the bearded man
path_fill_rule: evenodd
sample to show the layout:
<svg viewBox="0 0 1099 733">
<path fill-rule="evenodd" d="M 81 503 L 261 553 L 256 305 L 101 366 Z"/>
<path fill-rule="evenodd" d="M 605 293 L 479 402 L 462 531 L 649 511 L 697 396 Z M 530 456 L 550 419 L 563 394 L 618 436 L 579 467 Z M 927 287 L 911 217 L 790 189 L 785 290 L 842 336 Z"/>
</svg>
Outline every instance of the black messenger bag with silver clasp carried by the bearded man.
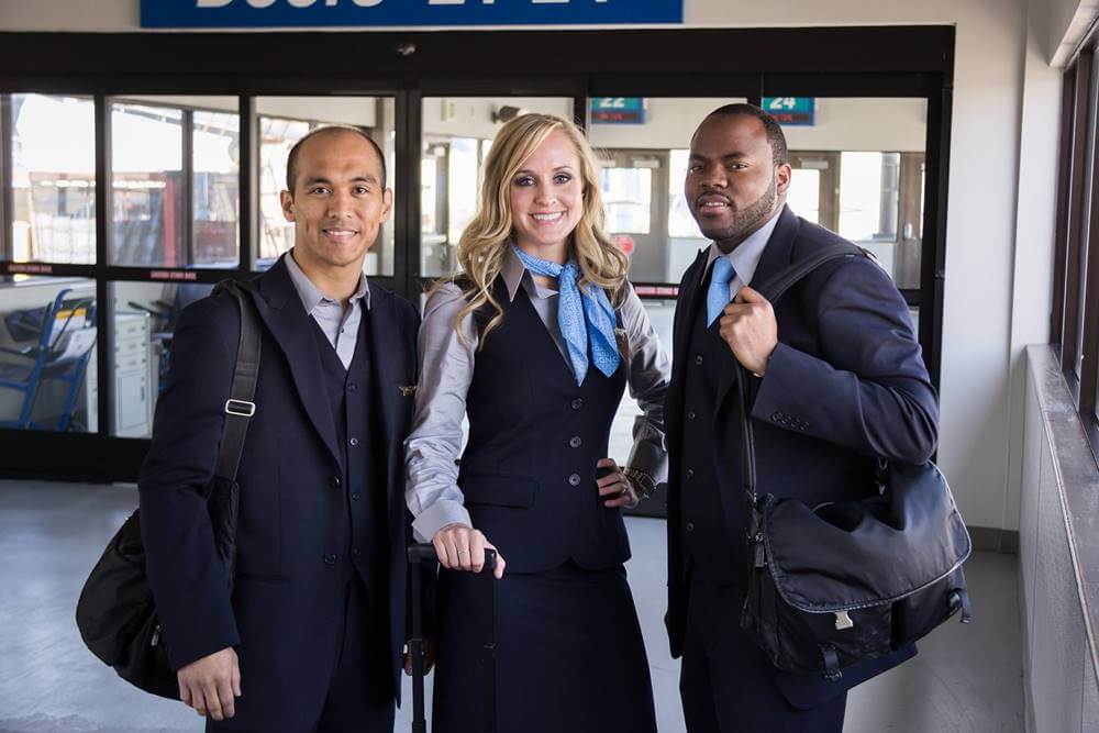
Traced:
<svg viewBox="0 0 1099 733">
<path fill-rule="evenodd" d="M 836 245 L 759 286 L 771 303 L 826 262 L 862 256 Z M 812 508 L 759 496 L 747 371 L 737 375 L 748 507 L 748 568 L 741 628 L 771 663 L 834 681 L 843 669 L 899 649 L 962 611 L 969 534 L 931 462 L 878 462 L 876 491 Z"/>
</svg>

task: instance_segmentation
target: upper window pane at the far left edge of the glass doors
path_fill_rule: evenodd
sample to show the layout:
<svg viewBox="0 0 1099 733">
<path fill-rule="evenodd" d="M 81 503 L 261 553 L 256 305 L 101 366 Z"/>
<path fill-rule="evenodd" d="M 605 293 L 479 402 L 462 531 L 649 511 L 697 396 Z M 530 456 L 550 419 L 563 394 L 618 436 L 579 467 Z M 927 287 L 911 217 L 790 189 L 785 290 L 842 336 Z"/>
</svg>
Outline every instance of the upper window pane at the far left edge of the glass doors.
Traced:
<svg viewBox="0 0 1099 733">
<path fill-rule="evenodd" d="M 96 262 L 96 105 L 12 95 L 12 259 Z"/>
</svg>

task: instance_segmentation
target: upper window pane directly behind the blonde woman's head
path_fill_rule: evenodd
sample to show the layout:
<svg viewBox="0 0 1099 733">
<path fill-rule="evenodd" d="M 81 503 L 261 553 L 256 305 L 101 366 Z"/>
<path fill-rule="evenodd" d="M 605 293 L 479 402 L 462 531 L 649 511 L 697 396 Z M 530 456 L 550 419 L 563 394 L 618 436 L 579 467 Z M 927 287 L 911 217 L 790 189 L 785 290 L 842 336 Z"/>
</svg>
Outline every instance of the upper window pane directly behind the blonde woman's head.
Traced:
<svg viewBox="0 0 1099 733">
<path fill-rule="evenodd" d="M 507 120 L 528 112 L 573 116 L 556 97 L 425 97 L 420 147 L 420 275 L 457 269 L 462 232 L 477 213 L 485 160 Z"/>
</svg>

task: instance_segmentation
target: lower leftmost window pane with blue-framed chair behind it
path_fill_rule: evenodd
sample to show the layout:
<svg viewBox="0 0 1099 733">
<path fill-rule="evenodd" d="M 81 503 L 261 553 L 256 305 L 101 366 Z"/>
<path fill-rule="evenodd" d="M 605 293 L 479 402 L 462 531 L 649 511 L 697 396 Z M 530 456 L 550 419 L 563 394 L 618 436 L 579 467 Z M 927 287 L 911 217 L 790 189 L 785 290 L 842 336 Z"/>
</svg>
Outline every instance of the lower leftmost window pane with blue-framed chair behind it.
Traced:
<svg viewBox="0 0 1099 733">
<path fill-rule="evenodd" d="M 96 284 L 0 278 L 0 427 L 98 430 Z"/>
</svg>

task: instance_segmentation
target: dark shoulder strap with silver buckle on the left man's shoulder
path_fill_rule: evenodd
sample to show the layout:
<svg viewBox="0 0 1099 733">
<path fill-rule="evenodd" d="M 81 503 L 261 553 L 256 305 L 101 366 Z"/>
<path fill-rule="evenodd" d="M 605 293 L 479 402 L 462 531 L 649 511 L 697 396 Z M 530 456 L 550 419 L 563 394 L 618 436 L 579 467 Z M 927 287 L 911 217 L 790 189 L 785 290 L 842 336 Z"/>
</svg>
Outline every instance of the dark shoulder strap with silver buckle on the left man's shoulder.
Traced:
<svg viewBox="0 0 1099 733">
<path fill-rule="evenodd" d="M 248 434 L 248 422 L 256 413 L 256 382 L 259 379 L 260 327 L 259 314 L 246 292 L 247 286 L 235 280 L 222 280 L 214 293 L 227 292 L 236 299 L 241 308 L 241 338 L 236 346 L 236 365 L 233 368 L 233 386 L 225 400 L 225 425 L 221 444 L 218 446 L 218 465 L 214 475 L 229 481 L 236 480 L 236 470 L 244 452 L 244 438 Z"/>
</svg>

